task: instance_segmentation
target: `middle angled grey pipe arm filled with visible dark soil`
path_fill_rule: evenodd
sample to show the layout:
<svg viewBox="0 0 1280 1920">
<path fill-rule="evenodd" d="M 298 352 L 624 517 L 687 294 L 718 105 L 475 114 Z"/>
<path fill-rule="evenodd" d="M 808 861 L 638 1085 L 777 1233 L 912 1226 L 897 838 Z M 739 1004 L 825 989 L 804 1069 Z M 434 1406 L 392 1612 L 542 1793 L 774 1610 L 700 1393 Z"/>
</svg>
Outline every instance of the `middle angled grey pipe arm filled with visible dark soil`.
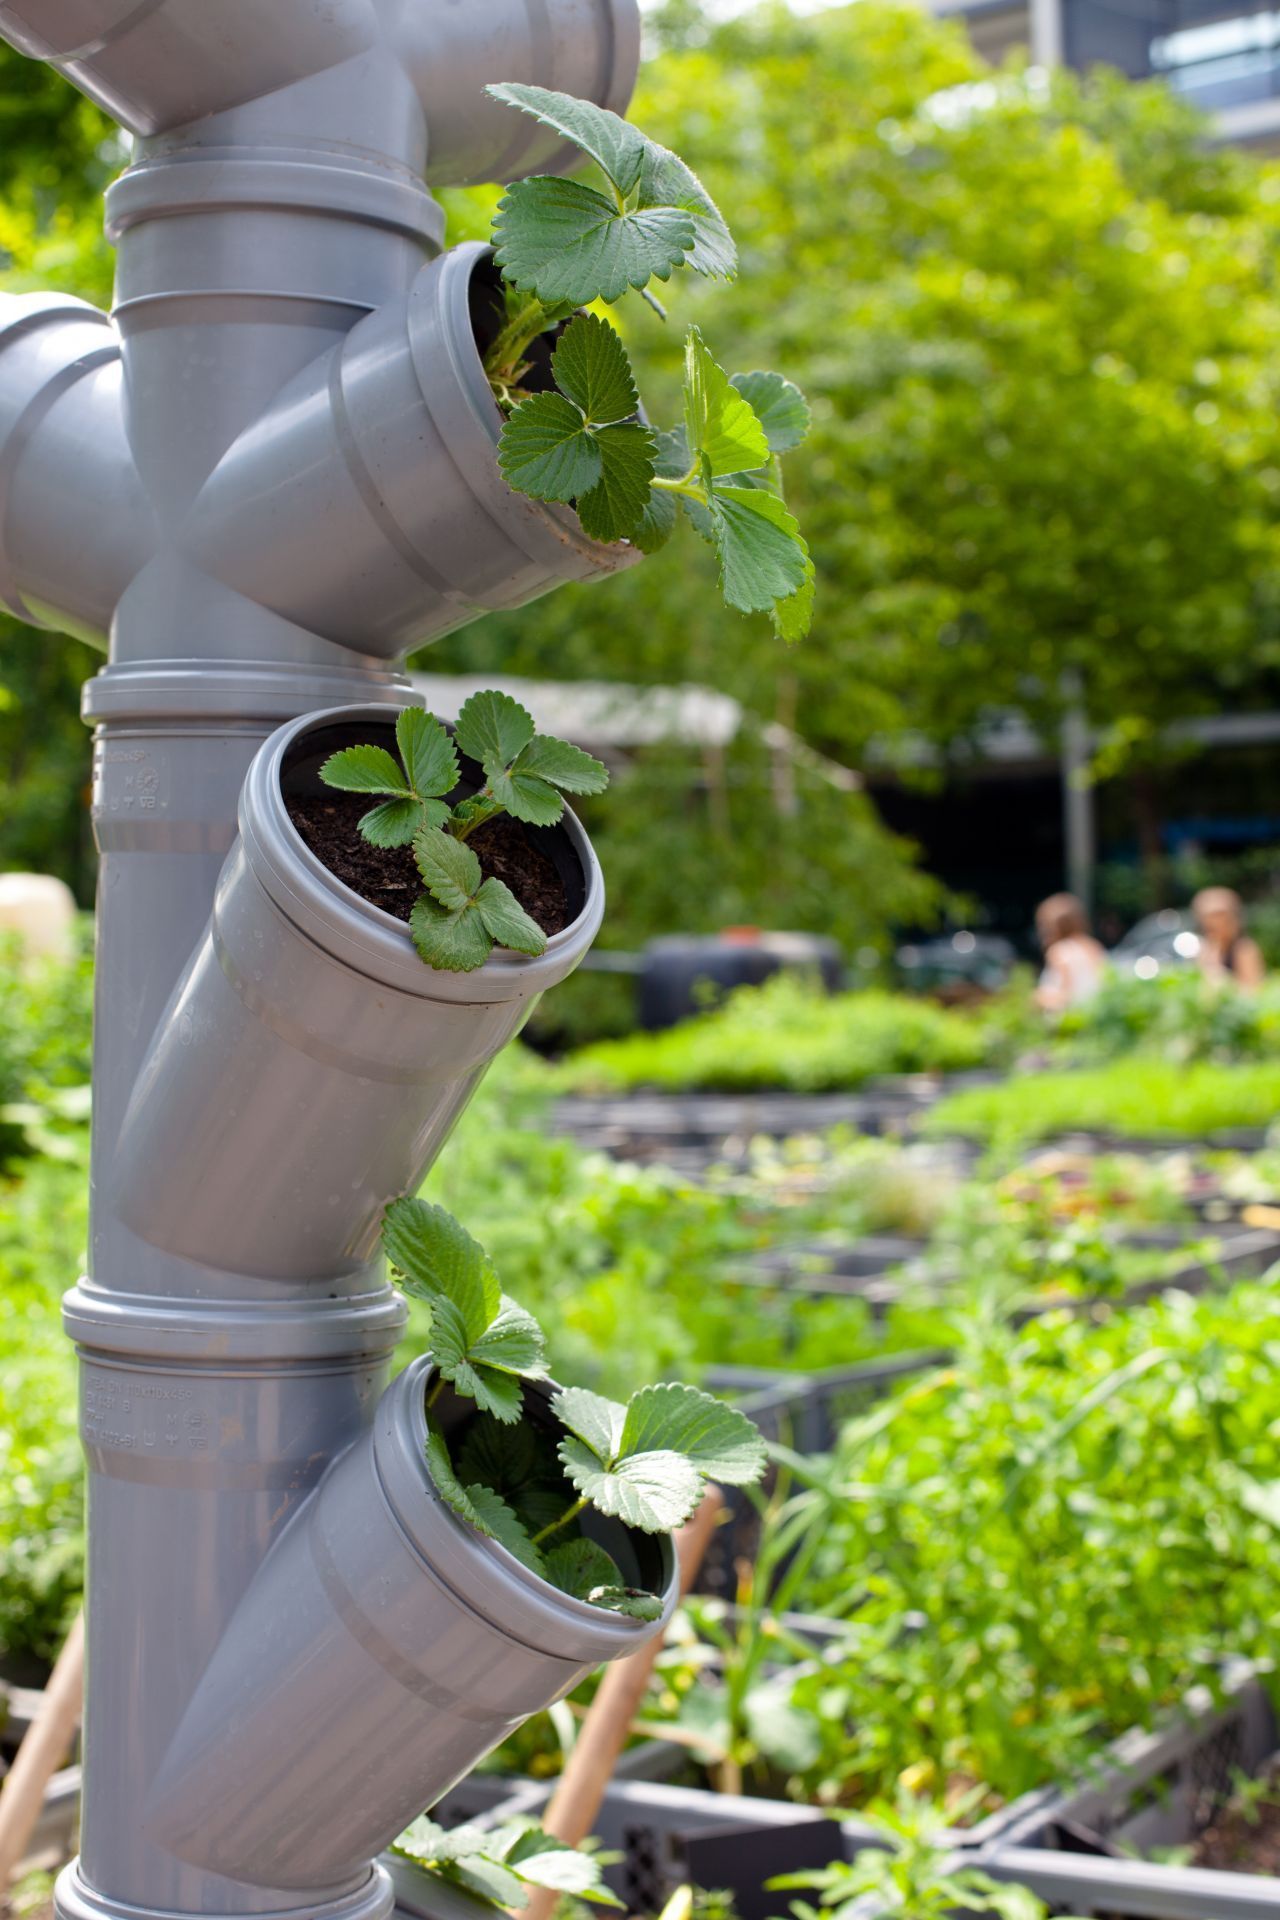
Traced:
<svg viewBox="0 0 1280 1920">
<path fill-rule="evenodd" d="M 324 791 L 320 764 L 357 741 L 393 747 L 382 708 L 311 714 L 259 751 L 207 931 L 125 1116 L 123 1221 L 219 1271 L 319 1283 L 367 1267 L 386 1204 L 416 1188 L 604 912 L 566 812 L 530 837 L 564 881 L 570 925 L 539 958 L 499 948 L 472 973 L 428 968 L 409 927 L 330 874 L 288 816 L 286 795 Z"/>
</svg>

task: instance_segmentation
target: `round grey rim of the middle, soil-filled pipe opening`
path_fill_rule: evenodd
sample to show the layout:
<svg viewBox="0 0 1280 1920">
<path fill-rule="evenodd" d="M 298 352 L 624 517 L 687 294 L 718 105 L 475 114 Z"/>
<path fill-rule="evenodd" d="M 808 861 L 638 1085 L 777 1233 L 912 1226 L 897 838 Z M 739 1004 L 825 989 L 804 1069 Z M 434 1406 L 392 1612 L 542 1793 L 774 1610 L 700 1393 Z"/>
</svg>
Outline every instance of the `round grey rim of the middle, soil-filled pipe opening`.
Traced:
<svg viewBox="0 0 1280 1920">
<path fill-rule="evenodd" d="M 418 707 L 422 699 L 409 695 L 401 705 Z M 384 914 L 330 874 L 288 816 L 280 774 L 290 749 L 309 732 L 340 722 L 386 726 L 388 712 L 368 703 L 332 707 L 276 728 L 253 756 L 240 795 L 240 841 L 246 860 L 286 920 L 330 958 L 420 1000 L 507 1004 L 533 998 L 572 973 L 604 918 L 604 879 L 591 841 L 568 806 L 560 829 L 581 864 L 585 893 L 578 920 L 553 933 L 537 958 L 495 948 L 474 973 L 439 972 L 418 958 L 405 922 Z M 213 914 L 217 924 L 217 904 Z"/>
</svg>

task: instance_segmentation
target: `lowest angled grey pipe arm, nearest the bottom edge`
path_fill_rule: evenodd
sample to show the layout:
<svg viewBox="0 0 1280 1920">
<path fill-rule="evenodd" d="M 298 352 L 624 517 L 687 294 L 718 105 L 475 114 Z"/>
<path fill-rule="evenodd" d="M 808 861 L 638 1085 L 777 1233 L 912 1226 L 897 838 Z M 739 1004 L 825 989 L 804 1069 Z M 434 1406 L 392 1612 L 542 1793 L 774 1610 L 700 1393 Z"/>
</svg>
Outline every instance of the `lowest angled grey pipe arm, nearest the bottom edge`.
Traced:
<svg viewBox="0 0 1280 1920">
<path fill-rule="evenodd" d="M 557 1592 L 445 1507 L 430 1379 L 430 1359 L 401 1373 L 244 1597 L 146 1812 L 175 1853 L 332 1893 L 530 1713 L 654 1632 Z M 434 1409 L 445 1430 L 468 1411 L 451 1392 Z M 670 1617 L 670 1538 L 601 1517 L 597 1536 Z"/>
</svg>

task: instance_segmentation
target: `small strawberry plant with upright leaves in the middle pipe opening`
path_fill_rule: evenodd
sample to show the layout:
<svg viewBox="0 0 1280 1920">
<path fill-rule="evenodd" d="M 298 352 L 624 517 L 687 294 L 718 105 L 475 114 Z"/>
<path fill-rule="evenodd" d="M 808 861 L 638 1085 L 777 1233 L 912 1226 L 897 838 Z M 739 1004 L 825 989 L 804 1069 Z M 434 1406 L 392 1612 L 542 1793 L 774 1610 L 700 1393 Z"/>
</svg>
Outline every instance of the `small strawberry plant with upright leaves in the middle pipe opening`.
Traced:
<svg viewBox="0 0 1280 1920">
<path fill-rule="evenodd" d="M 457 743 L 457 745 L 455 745 Z M 413 847 L 422 876 L 409 931 L 428 966 L 470 973 L 495 947 L 541 954 L 547 935 L 495 874 L 482 876 L 466 845 L 476 828 L 499 814 L 549 828 L 564 814 L 566 793 L 603 793 L 604 766 L 581 747 L 537 733 L 533 718 L 509 693 L 472 693 L 453 737 L 420 707 L 395 722 L 399 762 L 386 747 L 344 747 L 328 756 L 320 780 L 344 793 L 378 797 L 361 820 L 372 847 Z M 484 787 L 455 804 L 457 749 L 478 760 Z"/>
</svg>

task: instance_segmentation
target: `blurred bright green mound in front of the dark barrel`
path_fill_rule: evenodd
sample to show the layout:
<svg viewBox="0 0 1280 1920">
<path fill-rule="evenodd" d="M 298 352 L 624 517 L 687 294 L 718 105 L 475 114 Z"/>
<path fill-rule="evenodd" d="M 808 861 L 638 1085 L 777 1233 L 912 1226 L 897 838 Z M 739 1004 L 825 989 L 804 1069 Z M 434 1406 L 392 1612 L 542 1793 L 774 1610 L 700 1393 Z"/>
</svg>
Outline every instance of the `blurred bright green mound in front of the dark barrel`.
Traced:
<svg viewBox="0 0 1280 1920">
<path fill-rule="evenodd" d="M 779 973 L 664 1033 L 585 1046 L 560 1069 L 574 1092 L 827 1092 L 877 1073 L 954 1073 L 990 1056 L 986 1025 L 902 993 L 821 995 Z"/>
</svg>

